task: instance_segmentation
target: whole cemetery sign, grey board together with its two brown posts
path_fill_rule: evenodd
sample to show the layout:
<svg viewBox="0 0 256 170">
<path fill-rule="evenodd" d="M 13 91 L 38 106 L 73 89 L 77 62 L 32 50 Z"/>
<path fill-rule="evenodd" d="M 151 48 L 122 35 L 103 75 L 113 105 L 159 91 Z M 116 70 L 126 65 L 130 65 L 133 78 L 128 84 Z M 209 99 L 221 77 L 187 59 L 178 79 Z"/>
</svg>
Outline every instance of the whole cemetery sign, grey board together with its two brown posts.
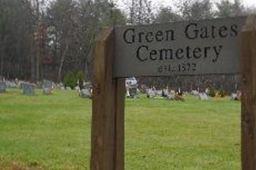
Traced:
<svg viewBox="0 0 256 170">
<path fill-rule="evenodd" d="M 241 75 L 242 170 L 255 170 L 255 45 L 256 16 L 102 31 L 93 60 L 91 170 L 125 167 L 122 77 L 222 73 Z"/>
</svg>

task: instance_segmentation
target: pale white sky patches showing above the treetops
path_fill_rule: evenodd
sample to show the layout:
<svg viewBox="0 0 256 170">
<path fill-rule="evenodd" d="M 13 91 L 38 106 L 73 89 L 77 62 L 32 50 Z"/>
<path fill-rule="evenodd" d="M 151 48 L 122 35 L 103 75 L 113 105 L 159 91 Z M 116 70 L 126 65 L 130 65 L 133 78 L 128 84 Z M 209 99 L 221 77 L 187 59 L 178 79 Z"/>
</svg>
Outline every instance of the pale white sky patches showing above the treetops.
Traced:
<svg viewBox="0 0 256 170">
<path fill-rule="evenodd" d="M 131 0 L 114 0 L 117 2 L 117 5 L 125 9 L 125 4 Z M 171 6 L 175 10 L 175 2 L 179 2 L 180 0 L 151 0 L 152 6 L 155 7 L 155 10 L 157 10 L 159 7 L 164 6 Z M 212 3 L 220 2 L 221 0 L 211 0 Z M 231 2 L 234 2 L 234 0 L 230 0 Z M 256 7 L 256 0 L 241 0 L 242 4 L 244 4 L 245 7 Z"/>
</svg>

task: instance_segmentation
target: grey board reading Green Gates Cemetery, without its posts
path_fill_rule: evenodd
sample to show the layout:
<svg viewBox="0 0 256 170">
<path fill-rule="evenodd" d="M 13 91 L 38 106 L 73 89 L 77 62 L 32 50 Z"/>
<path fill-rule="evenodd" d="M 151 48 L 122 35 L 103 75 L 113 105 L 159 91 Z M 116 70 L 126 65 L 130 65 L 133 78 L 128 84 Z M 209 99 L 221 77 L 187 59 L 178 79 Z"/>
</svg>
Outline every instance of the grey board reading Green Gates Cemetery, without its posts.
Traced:
<svg viewBox="0 0 256 170">
<path fill-rule="evenodd" d="M 113 77 L 238 73 L 245 20 L 116 27 Z"/>
</svg>

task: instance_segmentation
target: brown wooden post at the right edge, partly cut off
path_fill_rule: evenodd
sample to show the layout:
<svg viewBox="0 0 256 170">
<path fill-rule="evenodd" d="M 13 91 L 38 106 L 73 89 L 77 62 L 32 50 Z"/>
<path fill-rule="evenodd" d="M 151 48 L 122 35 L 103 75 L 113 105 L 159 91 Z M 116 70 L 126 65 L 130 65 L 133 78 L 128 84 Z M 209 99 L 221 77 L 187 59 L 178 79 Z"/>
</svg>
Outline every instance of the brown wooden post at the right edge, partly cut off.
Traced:
<svg viewBox="0 0 256 170">
<path fill-rule="evenodd" d="M 241 33 L 242 169 L 256 169 L 256 18 L 249 17 Z"/>
</svg>

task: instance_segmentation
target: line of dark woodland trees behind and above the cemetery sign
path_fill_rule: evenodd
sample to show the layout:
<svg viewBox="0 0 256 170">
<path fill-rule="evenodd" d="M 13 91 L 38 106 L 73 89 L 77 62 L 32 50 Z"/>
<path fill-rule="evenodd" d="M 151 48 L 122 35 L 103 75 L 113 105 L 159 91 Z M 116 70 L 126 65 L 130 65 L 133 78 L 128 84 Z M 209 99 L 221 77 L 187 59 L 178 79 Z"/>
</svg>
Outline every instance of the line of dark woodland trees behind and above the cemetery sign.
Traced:
<svg viewBox="0 0 256 170">
<path fill-rule="evenodd" d="M 151 0 L 0 0 L 0 75 L 32 82 L 62 81 L 70 72 L 90 80 L 100 30 L 253 13 L 241 1 L 180 0 L 155 9 Z"/>
</svg>

